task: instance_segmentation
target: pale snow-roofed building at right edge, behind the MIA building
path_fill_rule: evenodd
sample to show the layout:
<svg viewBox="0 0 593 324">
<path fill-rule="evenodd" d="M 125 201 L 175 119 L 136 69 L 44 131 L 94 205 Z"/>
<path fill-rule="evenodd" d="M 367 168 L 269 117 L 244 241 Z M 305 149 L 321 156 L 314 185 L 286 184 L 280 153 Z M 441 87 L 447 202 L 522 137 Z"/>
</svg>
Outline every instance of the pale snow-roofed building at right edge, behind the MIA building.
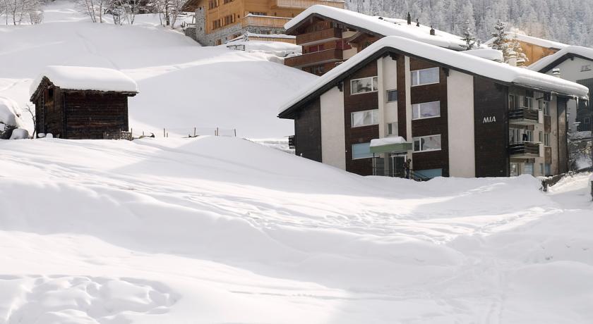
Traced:
<svg viewBox="0 0 593 324">
<path fill-rule="evenodd" d="M 577 82 L 588 87 L 589 93 L 593 92 L 593 49 L 567 46 L 533 63 L 529 70 Z M 568 113 L 570 132 L 593 130 L 593 109 L 587 101 L 570 102 Z"/>
</svg>

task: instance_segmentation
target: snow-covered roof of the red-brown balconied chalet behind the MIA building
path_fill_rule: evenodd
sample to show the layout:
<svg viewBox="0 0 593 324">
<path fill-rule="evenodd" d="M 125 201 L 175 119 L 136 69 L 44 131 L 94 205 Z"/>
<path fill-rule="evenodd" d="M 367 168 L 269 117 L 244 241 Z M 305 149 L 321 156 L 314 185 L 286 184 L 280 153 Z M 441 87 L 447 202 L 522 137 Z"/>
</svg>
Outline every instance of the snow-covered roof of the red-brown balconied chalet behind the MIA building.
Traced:
<svg viewBox="0 0 593 324">
<path fill-rule="evenodd" d="M 446 47 L 448 49 L 465 49 L 465 42 L 461 37 L 436 30 L 436 35 L 430 35 L 431 27 L 416 23 L 408 25 L 406 20 L 384 17 L 373 17 L 364 13 L 357 13 L 347 9 L 323 6 L 321 4 L 310 6 L 296 17 L 292 18 L 284 25 L 289 30 L 309 18 L 310 15 L 321 15 L 326 18 L 337 20 L 345 25 L 359 27 L 361 30 L 368 30 L 383 36 L 400 36 L 414 39 L 419 42 L 425 42 L 436 46 Z"/>
</svg>

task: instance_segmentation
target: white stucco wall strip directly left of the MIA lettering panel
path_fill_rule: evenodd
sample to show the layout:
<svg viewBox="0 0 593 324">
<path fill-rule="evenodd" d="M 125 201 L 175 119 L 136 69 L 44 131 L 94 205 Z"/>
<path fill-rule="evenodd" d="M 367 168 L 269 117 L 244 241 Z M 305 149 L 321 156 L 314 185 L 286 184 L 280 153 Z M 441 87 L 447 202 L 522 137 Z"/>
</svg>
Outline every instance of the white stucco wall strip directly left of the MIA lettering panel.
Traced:
<svg viewBox="0 0 593 324">
<path fill-rule="evenodd" d="M 451 177 L 475 177 L 474 77 L 455 70 L 447 78 L 449 173 Z M 464 94 L 464 95 L 460 95 Z"/>
</svg>

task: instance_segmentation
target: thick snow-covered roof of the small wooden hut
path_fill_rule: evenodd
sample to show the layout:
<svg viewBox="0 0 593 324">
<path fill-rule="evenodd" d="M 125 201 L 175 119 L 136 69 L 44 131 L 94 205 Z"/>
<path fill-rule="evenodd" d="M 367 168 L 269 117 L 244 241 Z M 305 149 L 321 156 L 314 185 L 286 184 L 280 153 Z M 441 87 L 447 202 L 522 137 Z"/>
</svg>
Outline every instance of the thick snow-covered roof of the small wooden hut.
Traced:
<svg viewBox="0 0 593 324">
<path fill-rule="evenodd" d="M 44 77 L 61 89 L 138 93 L 136 81 L 119 70 L 83 66 L 47 66 L 31 83 L 30 96 L 37 92 Z"/>
</svg>

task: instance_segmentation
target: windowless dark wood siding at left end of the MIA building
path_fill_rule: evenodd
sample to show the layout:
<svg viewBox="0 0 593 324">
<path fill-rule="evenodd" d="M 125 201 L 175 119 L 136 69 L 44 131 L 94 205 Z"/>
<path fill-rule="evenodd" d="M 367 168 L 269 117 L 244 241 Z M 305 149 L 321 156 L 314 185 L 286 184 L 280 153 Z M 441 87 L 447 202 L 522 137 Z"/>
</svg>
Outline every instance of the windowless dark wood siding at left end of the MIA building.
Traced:
<svg viewBox="0 0 593 324">
<path fill-rule="evenodd" d="M 319 97 L 294 118 L 296 155 L 321 162 L 321 101 Z"/>
</svg>

